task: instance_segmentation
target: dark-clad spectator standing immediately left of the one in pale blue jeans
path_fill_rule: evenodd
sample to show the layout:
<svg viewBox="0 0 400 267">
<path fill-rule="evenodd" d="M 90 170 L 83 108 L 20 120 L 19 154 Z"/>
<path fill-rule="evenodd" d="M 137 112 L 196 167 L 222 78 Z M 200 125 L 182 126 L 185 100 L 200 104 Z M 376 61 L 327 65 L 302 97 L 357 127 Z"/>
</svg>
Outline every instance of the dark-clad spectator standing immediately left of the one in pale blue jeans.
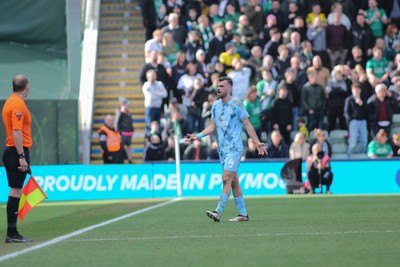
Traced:
<svg viewBox="0 0 400 267">
<path fill-rule="evenodd" d="M 347 129 L 346 121 L 343 116 L 344 102 L 348 96 L 347 85 L 343 79 L 343 73 L 339 66 L 332 71 L 332 79 L 326 86 L 328 131 L 336 129 L 336 120 L 339 119 L 341 130 Z"/>
</svg>

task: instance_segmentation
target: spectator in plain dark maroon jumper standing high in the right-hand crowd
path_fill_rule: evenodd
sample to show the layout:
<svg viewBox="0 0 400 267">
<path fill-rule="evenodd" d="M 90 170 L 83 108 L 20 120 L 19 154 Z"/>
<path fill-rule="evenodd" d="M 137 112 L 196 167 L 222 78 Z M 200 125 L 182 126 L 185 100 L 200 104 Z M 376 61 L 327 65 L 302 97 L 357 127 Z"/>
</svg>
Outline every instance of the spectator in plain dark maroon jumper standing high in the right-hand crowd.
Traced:
<svg viewBox="0 0 400 267">
<path fill-rule="evenodd" d="M 332 69 L 339 64 L 344 64 L 348 51 L 349 32 L 340 24 L 340 14 L 333 14 L 332 24 L 326 27 L 326 46 Z"/>
</svg>

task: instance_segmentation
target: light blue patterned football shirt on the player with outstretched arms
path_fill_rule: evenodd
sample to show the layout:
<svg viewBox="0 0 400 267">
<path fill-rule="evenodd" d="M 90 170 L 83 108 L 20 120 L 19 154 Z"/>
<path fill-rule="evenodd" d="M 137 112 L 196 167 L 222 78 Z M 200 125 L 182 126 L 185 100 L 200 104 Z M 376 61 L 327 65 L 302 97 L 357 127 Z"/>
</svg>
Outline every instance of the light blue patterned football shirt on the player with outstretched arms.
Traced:
<svg viewBox="0 0 400 267">
<path fill-rule="evenodd" d="M 216 126 L 216 137 L 220 157 L 229 153 L 243 153 L 243 122 L 249 117 L 243 103 L 237 98 L 231 98 L 227 103 L 221 99 L 214 102 L 211 117 Z"/>
</svg>

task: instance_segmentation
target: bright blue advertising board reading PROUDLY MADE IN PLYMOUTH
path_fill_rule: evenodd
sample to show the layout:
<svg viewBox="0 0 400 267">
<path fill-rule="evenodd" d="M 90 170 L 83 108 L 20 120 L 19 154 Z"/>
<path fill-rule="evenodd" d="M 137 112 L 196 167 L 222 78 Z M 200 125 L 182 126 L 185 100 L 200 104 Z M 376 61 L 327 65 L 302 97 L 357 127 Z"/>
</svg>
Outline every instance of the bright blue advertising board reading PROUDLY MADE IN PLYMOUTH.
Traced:
<svg viewBox="0 0 400 267">
<path fill-rule="evenodd" d="M 242 162 L 239 179 L 246 196 L 284 195 L 280 179 L 283 161 Z M 398 194 L 398 160 L 333 161 L 335 194 Z M 47 201 L 177 196 L 175 164 L 32 166 L 33 176 L 48 195 Z M 181 164 L 184 197 L 219 196 L 221 165 L 218 162 Z M 303 180 L 306 174 L 303 165 Z M 0 202 L 6 202 L 8 185 L 0 167 Z"/>
</svg>

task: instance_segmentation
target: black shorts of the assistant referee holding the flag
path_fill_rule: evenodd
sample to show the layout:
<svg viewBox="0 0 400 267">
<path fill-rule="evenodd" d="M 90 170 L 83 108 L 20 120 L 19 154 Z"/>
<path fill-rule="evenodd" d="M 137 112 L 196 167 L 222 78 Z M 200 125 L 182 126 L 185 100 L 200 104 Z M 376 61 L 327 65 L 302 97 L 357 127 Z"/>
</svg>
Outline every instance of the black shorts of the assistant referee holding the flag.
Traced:
<svg viewBox="0 0 400 267">
<path fill-rule="evenodd" d="M 25 160 L 29 165 L 29 149 L 24 147 Z M 7 173 L 8 186 L 11 188 L 22 188 L 27 172 L 21 172 L 18 167 L 19 156 L 15 147 L 5 147 L 3 163 Z"/>
</svg>

